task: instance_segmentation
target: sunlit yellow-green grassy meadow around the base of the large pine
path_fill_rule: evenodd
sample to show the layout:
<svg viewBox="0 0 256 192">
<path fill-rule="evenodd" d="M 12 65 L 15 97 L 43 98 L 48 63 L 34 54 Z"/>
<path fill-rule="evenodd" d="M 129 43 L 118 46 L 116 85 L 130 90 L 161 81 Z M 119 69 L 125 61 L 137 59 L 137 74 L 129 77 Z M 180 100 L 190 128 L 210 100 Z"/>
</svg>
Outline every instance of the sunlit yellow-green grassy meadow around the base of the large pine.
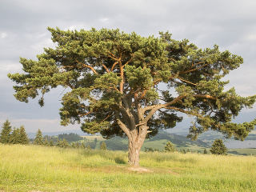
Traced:
<svg viewBox="0 0 256 192">
<path fill-rule="evenodd" d="M 0 191 L 256 191 L 256 157 L 0 145 Z"/>
</svg>

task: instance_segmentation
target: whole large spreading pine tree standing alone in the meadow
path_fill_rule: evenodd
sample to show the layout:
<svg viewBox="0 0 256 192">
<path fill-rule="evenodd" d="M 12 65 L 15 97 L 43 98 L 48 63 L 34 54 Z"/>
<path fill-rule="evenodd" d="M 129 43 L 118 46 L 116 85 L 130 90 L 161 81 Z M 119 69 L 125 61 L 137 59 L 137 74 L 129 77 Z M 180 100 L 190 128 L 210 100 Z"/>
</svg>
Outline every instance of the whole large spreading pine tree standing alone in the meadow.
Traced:
<svg viewBox="0 0 256 192">
<path fill-rule="evenodd" d="M 231 122 L 242 108 L 253 106 L 256 96 L 224 90 L 229 82 L 221 79 L 243 62 L 228 50 L 198 49 L 169 32 L 145 38 L 120 30 L 48 30 L 55 49 L 45 48 L 38 61 L 21 58 L 25 74 L 8 74 L 19 84 L 15 98 L 28 102 L 41 95 L 43 106 L 44 94 L 65 87 L 61 124 L 78 122 L 86 133 L 105 138 L 126 135 L 130 164 L 138 165 L 146 137 L 182 121 L 177 112 L 194 117 L 192 139 L 218 130 L 243 140 L 254 129 L 256 120 Z"/>
</svg>

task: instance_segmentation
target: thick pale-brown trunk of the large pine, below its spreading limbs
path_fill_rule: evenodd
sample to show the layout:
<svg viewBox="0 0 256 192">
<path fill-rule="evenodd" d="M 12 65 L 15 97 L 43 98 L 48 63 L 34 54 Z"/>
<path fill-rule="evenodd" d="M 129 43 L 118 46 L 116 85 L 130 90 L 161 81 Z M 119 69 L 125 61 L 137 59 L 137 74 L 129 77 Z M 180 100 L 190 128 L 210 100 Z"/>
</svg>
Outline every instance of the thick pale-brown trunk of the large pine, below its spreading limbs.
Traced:
<svg viewBox="0 0 256 192">
<path fill-rule="evenodd" d="M 139 152 L 145 141 L 148 126 L 141 126 L 138 131 L 130 131 L 129 138 L 129 161 L 131 166 L 139 166 Z"/>
</svg>

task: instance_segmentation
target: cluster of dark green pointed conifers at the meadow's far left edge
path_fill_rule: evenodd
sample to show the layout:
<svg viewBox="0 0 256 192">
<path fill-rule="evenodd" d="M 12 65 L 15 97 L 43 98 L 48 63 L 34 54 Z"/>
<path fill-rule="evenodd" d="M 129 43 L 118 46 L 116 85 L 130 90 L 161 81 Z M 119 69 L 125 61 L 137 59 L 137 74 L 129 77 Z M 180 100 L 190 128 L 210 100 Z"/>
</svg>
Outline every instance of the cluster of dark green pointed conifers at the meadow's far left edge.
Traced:
<svg viewBox="0 0 256 192">
<path fill-rule="evenodd" d="M 24 126 L 20 126 L 19 128 L 12 128 L 8 120 L 3 123 L 2 131 L 0 134 L 0 143 L 26 145 L 29 142 L 30 140 L 27 137 Z"/>
</svg>

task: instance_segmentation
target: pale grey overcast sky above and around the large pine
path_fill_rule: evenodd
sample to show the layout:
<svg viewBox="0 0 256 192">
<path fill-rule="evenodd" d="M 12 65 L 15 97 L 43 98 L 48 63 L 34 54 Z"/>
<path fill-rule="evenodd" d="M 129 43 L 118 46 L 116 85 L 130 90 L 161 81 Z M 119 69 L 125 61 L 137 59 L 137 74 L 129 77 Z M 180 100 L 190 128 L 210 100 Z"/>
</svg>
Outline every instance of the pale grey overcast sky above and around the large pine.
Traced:
<svg viewBox="0 0 256 192">
<path fill-rule="evenodd" d="M 59 126 L 62 88 L 46 94 L 46 104 L 40 107 L 38 98 L 29 103 L 15 100 L 14 82 L 6 76 L 22 73 L 20 57 L 36 59 L 43 47 L 54 47 L 48 26 L 119 28 L 145 37 L 169 30 L 172 38 L 187 38 L 203 49 L 217 44 L 244 58 L 244 64 L 227 76 L 226 88 L 234 86 L 242 96 L 256 94 L 255 10 L 255 0 L 0 0 L 0 126 L 8 118 L 28 133 L 79 129 Z"/>
</svg>

